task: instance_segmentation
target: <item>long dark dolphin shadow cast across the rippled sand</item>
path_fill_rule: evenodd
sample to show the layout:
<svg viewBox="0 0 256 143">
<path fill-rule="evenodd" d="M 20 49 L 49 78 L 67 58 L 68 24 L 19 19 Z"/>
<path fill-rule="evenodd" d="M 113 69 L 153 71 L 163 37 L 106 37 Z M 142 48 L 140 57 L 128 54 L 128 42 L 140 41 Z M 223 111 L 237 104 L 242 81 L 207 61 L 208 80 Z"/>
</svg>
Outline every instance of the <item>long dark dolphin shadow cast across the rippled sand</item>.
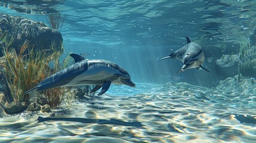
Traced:
<svg viewBox="0 0 256 143">
<path fill-rule="evenodd" d="M 121 120 L 116 119 L 86 119 L 86 118 L 51 118 L 51 117 L 38 117 L 38 123 L 42 123 L 45 121 L 68 121 L 68 122 L 79 122 L 79 123 L 97 123 L 100 125 L 121 125 L 121 126 L 134 126 L 134 127 L 141 127 L 144 126 L 141 122 L 124 122 Z"/>
</svg>

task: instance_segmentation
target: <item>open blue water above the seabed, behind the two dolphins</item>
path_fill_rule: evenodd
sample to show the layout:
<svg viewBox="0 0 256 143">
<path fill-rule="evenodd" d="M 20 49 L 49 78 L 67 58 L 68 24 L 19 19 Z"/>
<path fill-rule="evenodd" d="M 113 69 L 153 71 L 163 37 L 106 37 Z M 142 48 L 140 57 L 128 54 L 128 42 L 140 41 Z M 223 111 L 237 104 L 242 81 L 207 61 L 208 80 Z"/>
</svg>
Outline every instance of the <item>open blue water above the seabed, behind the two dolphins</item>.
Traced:
<svg viewBox="0 0 256 143">
<path fill-rule="evenodd" d="M 233 51 L 227 48 L 223 54 L 237 52 L 241 41 L 250 41 L 255 30 L 254 4 L 254 1 L 190 0 L 2 1 L 1 5 L 31 10 L 19 13 L 2 7 L 1 12 L 46 24 L 47 14 L 60 13 L 65 16 L 60 32 L 67 52 L 88 52 L 91 54 L 88 58 L 118 63 L 132 74 L 135 82 L 166 83 L 182 63 L 157 60 L 169 54 L 170 49 L 181 48 L 186 36 L 193 41 L 200 39 L 202 46 L 213 53 L 222 50 L 216 47 L 221 43 L 233 47 L 230 48 Z M 206 52 L 208 57 L 211 54 Z M 186 73 L 180 76 L 197 84 L 195 76 Z"/>
</svg>

